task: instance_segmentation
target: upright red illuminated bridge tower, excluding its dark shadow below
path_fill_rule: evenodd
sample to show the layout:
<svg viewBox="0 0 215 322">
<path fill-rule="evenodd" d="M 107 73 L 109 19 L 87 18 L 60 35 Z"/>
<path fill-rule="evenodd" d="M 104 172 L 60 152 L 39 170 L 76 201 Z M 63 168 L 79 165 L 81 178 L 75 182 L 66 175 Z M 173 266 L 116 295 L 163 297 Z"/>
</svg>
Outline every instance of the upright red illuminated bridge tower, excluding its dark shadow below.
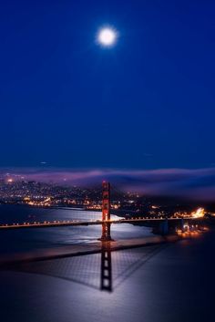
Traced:
<svg viewBox="0 0 215 322">
<path fill-rule="evenodd" d="M 102 234 L 101 241 L 111 241 L 110 236 L 110 184 L 102 182 Z"/>
</svg>

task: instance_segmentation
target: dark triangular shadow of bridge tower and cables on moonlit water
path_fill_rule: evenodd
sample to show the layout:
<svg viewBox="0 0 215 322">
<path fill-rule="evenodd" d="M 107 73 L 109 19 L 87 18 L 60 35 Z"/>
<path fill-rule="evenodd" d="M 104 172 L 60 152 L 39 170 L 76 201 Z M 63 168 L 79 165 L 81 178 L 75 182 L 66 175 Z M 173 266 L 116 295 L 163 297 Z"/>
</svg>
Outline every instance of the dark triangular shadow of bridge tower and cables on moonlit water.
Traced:
<svg viewBox="0 0 215 322">
<path fill-rule="evenodd" d="M 113 292 L 130 275 L 158 254 L 167 244 L 111 251 L 111 242 L 102 242 L 100 253 L 79 254 L 55 259 L 33 260 L 4 265 L 2 270 L 48 275 L 96 290 Z"/>
</svg>

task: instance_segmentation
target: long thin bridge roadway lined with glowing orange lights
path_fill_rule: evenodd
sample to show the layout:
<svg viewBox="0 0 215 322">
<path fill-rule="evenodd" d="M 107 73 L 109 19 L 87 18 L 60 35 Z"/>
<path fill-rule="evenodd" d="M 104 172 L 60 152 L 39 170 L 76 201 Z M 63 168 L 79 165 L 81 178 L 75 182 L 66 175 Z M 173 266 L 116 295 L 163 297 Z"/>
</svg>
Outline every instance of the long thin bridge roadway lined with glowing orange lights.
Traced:
<svg viewBox="0 0 215 322">
<path fill-rule="evenodd" d="M 89 226 L 103 223 L 155 223 L 155 222 L 164 222 L 168 219 L 168 221 L 179 221 L 181 219 L 184 220 L 195 220 L 197 218 L 193 217 L 169 217 L 169 218 L 146 218 L 139 217 L 133 219 L 119 219 L 119 220 L 109 220 L 103 222 L 101 220 L 91 220 L 91 221 L 46 221 L 46 222 L 34 222 L 34 223 L 2 223 L 0 224 L 0 230 L 9 230 L 9 229 L 21 229 L 21 228 L 51 228 L 51 227 L 68 227 L 68 226 Z"/>
</svg>

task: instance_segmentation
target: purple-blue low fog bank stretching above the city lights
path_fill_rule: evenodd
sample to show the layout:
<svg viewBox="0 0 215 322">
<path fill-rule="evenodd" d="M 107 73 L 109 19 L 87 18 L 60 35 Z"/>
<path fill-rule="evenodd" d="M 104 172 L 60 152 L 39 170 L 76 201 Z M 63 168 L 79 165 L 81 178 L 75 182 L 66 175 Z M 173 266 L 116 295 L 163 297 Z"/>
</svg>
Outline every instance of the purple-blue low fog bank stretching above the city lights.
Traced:
<svg viewBox="0 0 215 322">
<path fill-rule="evenodd" d="M 154 196 L 179 196 L 194 200 L 212 201 L 215 196 L 215 168 L 158 169 L 146 171 L 117 169 L 2 169 L 17 178 L 39 182 L 90 186 L 108 180 L 124 190 Z"/>
</svg>

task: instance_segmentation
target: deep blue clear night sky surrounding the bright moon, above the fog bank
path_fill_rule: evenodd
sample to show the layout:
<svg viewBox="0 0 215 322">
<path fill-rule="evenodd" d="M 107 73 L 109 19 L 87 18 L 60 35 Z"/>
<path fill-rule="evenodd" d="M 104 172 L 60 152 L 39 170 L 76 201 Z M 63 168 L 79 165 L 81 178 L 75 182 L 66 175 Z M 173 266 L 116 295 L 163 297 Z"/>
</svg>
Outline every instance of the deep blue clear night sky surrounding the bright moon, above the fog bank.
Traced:
<svg viewBox="0 0 215 322">
<path fill-rule="evenodd" d="M 214 15 L 210 0 L 1 2 L 0 166 L 214 166 Z"/>
</svg>

